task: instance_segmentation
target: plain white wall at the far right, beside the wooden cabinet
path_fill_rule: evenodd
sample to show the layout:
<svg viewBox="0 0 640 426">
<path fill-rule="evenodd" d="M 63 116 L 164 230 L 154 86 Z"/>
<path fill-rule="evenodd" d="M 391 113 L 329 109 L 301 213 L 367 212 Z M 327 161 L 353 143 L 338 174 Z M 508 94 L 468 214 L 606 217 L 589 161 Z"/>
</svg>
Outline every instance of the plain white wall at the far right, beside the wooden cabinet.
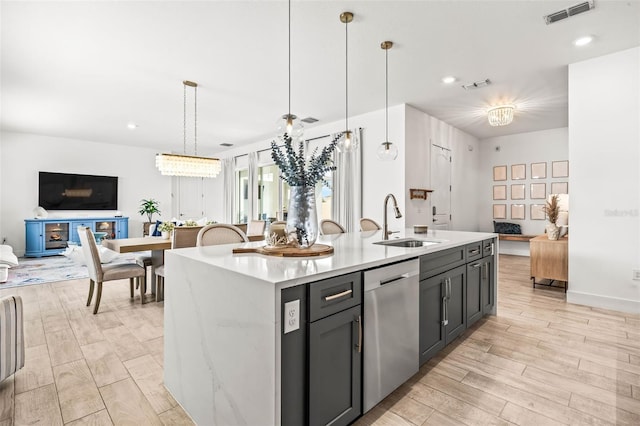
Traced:
<svg viewBox="0 0 640 426">
<path fill-rule="evenodd" d="M 640 312 L 640 48 L 569 66 L 567 300 Z"/>
</svg>

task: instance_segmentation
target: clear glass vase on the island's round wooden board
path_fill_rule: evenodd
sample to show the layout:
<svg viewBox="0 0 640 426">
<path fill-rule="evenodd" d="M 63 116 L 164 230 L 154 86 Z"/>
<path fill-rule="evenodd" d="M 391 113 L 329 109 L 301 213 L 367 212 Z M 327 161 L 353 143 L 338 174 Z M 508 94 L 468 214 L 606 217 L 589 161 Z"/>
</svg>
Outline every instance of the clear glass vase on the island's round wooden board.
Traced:
<svg viewBox="0 0 640 426">
<path fill-rule="evenodd" d="M 287 210 L 287 238 L 298 248 L 311 247 L 318 238 L 315 186 L 292 186 Z"/>
</svg>

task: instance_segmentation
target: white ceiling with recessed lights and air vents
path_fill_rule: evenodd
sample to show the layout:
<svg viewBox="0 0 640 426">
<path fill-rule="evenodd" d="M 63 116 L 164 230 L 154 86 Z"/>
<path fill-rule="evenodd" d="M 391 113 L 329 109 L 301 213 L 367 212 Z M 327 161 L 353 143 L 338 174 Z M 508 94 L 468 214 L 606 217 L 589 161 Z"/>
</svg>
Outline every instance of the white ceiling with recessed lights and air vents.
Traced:
<svg viewBox="0 0 640 426">
<path fill-rule="evenodd" d="M 390 106 L 479 138 L 567 126 L 567 65 L 640 45 L 639 0 L 596 0 L 545 24 L 577 3 L 294 0 L 292 112 L 344 119 L 349 10 L 350 115 L 384 108 L 380 42 L 391 40 Z M 287 112 L 286 1 L 0 4 L 2 130 L 181 151 L 185 79 L 199 84 L 201 154 L 268 139 Z M 572 44 L 586 34 L 591 45 Z M 503 102 L 517 106 L 513 123 L 489 126 L 486 108 Z"/>
</svg>

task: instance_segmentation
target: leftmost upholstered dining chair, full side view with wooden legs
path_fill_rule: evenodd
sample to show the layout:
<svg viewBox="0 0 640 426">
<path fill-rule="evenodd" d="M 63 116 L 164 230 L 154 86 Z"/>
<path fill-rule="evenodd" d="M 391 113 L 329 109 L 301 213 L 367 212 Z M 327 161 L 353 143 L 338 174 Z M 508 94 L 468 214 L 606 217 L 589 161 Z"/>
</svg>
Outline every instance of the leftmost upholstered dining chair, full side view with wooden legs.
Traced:
<svg viewBox="0 0 640 426">
<path fill-rule="evenodd" d="M 136 280 L 140 284 L 140 300 L 144 303 L 144 293 L 146 290 L 146 284 L 144 282 L 145 270 L 142 266 L 134 263 L 120 263 L 117 265 L 105 265 L 100 263 L 100 254 L 98 252 L 98 245 L 93 237 L 93 232 L 90 228 L 78 227 L 78 235 L 80 236 L 80 243 L 82 244 L 82 251 L 84 253 L 84 259 L 87 263 L 87 269 L 89 270 L 89 297 L 87 298 L 87 306 L 91 305 L 91 299 L 93 298 L 93 288 L 95 284 L 98 284 L 96 292 L 96 305 L 93 308 L 94 315 L 98 313 L 100 307 L 100 299 L 102 298 L 102 283 L 105 281 L 122 280 L 129 278 L 129 287 L 131 291 L 131 298 L 133 299 L 133 281 Z"/>
</svg>

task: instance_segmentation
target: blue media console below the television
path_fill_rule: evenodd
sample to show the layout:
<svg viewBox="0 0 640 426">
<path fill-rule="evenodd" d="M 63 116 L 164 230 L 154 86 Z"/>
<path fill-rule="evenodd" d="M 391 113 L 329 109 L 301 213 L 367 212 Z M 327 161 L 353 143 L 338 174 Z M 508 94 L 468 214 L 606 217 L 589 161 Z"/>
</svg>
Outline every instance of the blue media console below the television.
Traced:
<svg viewBox="0 0 640 426">
<path fill-rule="evenodd" d="M 80 245 L 78 226 L 85 226 L 101 238 L 127 238 L 128 217 L 76 217 L 25 219 L 26 257 L 53 256 L 69 245 Z"/>
</svg>

